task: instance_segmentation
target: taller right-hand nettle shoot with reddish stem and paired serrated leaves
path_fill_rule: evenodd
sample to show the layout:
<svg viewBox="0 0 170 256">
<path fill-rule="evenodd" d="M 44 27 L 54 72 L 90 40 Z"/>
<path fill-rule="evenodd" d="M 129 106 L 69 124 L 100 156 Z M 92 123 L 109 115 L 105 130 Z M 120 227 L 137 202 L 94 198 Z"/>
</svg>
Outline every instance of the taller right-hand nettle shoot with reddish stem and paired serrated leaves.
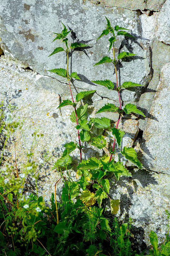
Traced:
<svg viewBox="0 0 170 256">
<path fill-rule="evenodd" d="M 120 91 L 122 89 L 131 89 L 132 87 L 136 87 L 136 86 L 142 86 L 142 84 L 136 84 L 130 81 L 124 82 L 122 85 L 118 84 L 118 78 L 117 78 L 117 68 L 116 68 L 116 64 L 119 60 L 122 60 L 123 58 L 129 58 L 131 56 L 135 56 L 136 54 L 131 53 L 131 52 L 120 52 L 117 56 L 117 59 L 115 58 L 115 41 L 116 41 L 116 37 L 118 36 L 128 36 L 128 37 L 134 37 L 132 35 L 130 35 L 129 33 L 127 33 L 124 30 L 128 30 L 127 28 L 122 28 L 119 27 L 118 25 L 115 26 L 115 28 L 112 28 L 110 25 L 110 21 L 106 18 L 107 20 L 107 27 L 106 29 L 103 30 L 102 34 L 98 37 L 97 40 L 99 40 L 102 36 L 107 35 L 109 33 L 112 34 L 112 36 L 108 39 L 110 46 L 108 49 L 108 52 L 110 51 L 110 49 L 113 46 L 113 59 L 111 59 L 108 56 L 104 56 L 99 62 L 97 62 L 94 66 L 96 65 L 100 65 L 103 63 L 107 63 L 107 62 L 111 62 L 114 65 L 114 69 L 115 69 L 115 75 L 116 75 L 116 91 L 118 92 L 118 98 L 119 98 L 119 107 L 116 107 L 114 104 L 106 104 L 105 106 L 103 106 L 102 108 L 100 108 L 97 113 L 101 113 L 101 112 L 117 112 L 119 113 L 119 118 L 116 124 L 116 128 L 112 128 L 112 134 L 114 135 L 115 139 L 113 142 L 113 147 L 112 147 L 112 151 L 111 151 L 111 155 L 110 155 L 110 160 L 112 159 L 112 156 L 115 152 L 115 142 L 117 142 L 118 147 L 121 148 L 121 140 L 122 137 L 124 135 L 124 132 L 121 131 L 118 128 L 119 125 L 119 121 L 121 119 L 121 116 L 125 113 L 125 114 L 139 114 L 145 117 L 144 113 L 142 111 L 140 111 L 139 109 L 137 109 L 137 107 L 134 104 L 128 103 L 123 109 L 122 109 L 122 104 L 121 104 L 121 98 L 120 98 Z M 96 80 L 96 81 L 92 81 L 95 84 L 100 84 L 100 85 L 104 85 L 105 87 L 107 87 L 110 90 L 115 90 L 115 85 L 111 80 Z M 133 148 L 126 148 L 124 147 L 123 150 L 121 151 L 122 155 L 125 156 L 127 159 L 131 158 L 136 159 L 135 162 L 137 163 L 137 154 L 135 152 L 135 150 Z M 129 154 L 128 154 L 129 153 Z M 130 159 L 129 159 L 130 160 Z M 131 160 L 131 161 L 132 161 Z M 132 161 L 134 163 L 134 161 Z M 139 161 L 138 161 L 139 162 Z M 140 162 L 139 162 L 140 163 Z M 142 164 L 138 163 L 138 167 L 141 168 Z"/>
</svg>

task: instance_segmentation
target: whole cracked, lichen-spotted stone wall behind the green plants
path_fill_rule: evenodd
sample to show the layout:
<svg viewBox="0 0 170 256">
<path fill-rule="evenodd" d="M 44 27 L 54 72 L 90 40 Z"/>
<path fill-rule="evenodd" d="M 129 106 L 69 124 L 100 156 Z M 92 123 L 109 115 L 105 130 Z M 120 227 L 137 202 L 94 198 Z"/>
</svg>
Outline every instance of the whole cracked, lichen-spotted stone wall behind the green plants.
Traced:
<svg viewBox="0 0 170 256">
<path fill-rule="evenodd" d="M 71 43 L 80 41 L 90 45 L 85 51 L 73 52 L 69 67 L 81 78 L 71 85 L 73 97 L 81 90 L 96 90 L 92 97 L 83 101 L 83 104 L 88 104 L 88 114 L 92 117 L 108 102 L 119 105 L 116 91 L 91 82 L 104 79 L 115 82 L 115 72 L 109 63 L 93 67 L 103 56 L 113 58 L 113 51 L 108 52 L 106 36 L 96 42 L 106 27 L 105 16 L 113 26 L 128 28 L 135 36 L 135 39 L 122 36 L 115 42 L 116 56 L 122 51 L 137 54 L 130 61 L 117 64 L 119 84 L 132 81 L 144 87 L 122 91 L 121 100 L 123 106 L 135 104 L 146 118 L 124 115 L 119 128 L 125 130 L 123 146 L 133 146 L 146 169 L 132 166 L 132 177 L 121 177 L 119 181 L 112 177 L 114 185 L 110 182 L 110 196 L 121 200 L 118 216 L 131 216 L 133 225 L 140 228 L 143 236 L 138 237 L 139 247 L 143 243 L 150 244 L 151 229 L 157 232 L 159 242 L 163 241 L 165 210 L 170 209 L 169 10 L 169 0 L 2 0 L 0 5 L 0 55 L 5 54 L 0 58 L 0 100 L 10 100 L 18 107 L 15 118 L 25 120 L 26 145 L 20 130 L 14 134 L 18 167 L 24 163 L 26 147 L 29 149 L 31 146 L 31 134 L 35 131 L 44 134 L 34 152 L 34 160 L 40 161 L 38 185 L 41 195 L 50 195 L 60 178 L 59 173 L 50 169 L 62 155 L 63 145 L 71 140 L 78 141 L 75 124 L 69 120 L 71 107 L 57 109 L 61 100 L 71 98 L 67 80 L 48 71 L 66 68 L 63 52 L 48 57 L 56 47 L 63 47 L 62 42 L 50 43 L 54 39 L 53 32 L 62 30 L 62 21 L 73 30 L 69 37 Z M 96 115 L 101 116 L 110 118 L 114 123 L 118 119 L 115 113 Z M 103 135 L 107 141 L 113 141 L 111 134 Z M 15 161 L 14 145 L 9 144 L 7 150 L 5 160 L 12 164 Z M 107 148 L 104 151 L 108 153 Z M 102 154 L 102 150 L 96 150 L 88 143 L 83 149 L 83 158 Z M 42 161 L 46 159 L 48 162 L 42 167 Z M 74 166 L 70 171 L 73 177 L 78 161 L 79 152 L 75 151 Z M 33 185 L 33 180 L 30 184 Z M 58 199 L 62 186 L 62 182 L 58 183 Z M 28 189 L 31 189 L 29 183 Z"/>
</svg>

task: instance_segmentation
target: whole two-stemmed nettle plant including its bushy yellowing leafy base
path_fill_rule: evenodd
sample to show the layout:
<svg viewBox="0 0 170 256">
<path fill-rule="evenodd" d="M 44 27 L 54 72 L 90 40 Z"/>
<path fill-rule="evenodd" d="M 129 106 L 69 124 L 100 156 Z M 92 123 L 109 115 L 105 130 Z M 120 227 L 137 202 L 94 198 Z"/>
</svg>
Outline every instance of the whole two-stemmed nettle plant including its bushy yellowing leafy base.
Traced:
<svg viewBox="0 0 170 256">
<path fill-rule="evenodd" d="M 78 77 L 76 72 L 72 72 L 69 75 L 69 62 L 68 62 L 69 52 L 73 51 L 76 48 L 80 48 L 80 50 L 81 50 L 81 48 L 87 47 L 88 45 L 81 44 L 80 42 L 71 44 L 69 42 L 68 38 L 66 37 L 71 32 L 71 30 L 67 31 L 64 24 L 63 24 L 63 27 L 64 28 L 62 30 L 62 33 L 58 33 L 58 34 L 55 33 L 57 36 L 53 40 L 53 42 L 55 40 L 62 39 L 63 42 L 65 43 L 66 48 L 63 49 L 62 47 L 57 47 L 54 50 L 54 52 L 52 52 L 49 56 L 51 56 L 55 53 L 61 52 L 61 51 L 65 51 L 66 55 L 67 55 L 67 70 L 63 69 L 63 68 L 56 68 L 56 69 L 52 69 L 49 71 L 51 71 L 59 76 L 63 76 L 68 80 L 72 101 L 71 100 L 63 100 L 63 102 L 58 106 L 58 108 L 61 108 L 61 107 L 67 106 L 67 105 L 73 106 L 74 111 L 70 115 L 70 120 L 73 123 L 77 124 L 76 129 L 78 130 L 79 146 L 75 142 L 66 143 L 64 145 L 64 147 L 66 149 L 63 152 L 63 156 L 59 160 L 57 160 L 53 169 L 57 168 L 58 170 L 61 171 L 61 168 L 63 168 L 63 167 L 68 168 L 68 165 L 70 165 L 71 161 L 72 161 L 70 153 L 73 150 L 75 150 L 76 148 L 79 148 L 80 163 L 77 166 L 78 181 L 69 183 L 69 185 L 67 183 L 67 185 L 63 189 L 68 190 L 67 193 L 69 193 L 69 196 L 70 196 L 69 200 L 73 200 L 73 198 L 77 197 L 78 194 L 80 193 L 80 191 L 82 191 L 79 199 L 82 201 L 82 203 L 86 207 L 92 206 L 93 204 L 96 204 L 96 203 L 98 203 L 99 207 L 101 207 L 102 200 L 104 198 L 109 197 L 107 194 L 109 194 L 110 185 L 109 185 L 109 180 L 107 179 L 107 174 L 109 172 L 114 173 L 117 180 L 119 180 L 121 175 L 131 176 L 131 174 L 129 173 L 129 171 L 123 165 L 122 162 L 120 162 L 120 161 L 116 162 L 114 160 L 113 156 L 115 156 L 115 154 L 122 154 L 122 156 L 124 156 L 127 160 L 130 160 L 138 168 L 143 168 L 143 165 L 137 159 L 137 153 L 134 150 L 134 148 L 131 148 L 131 147 L 127 148 L 125 146 L 121 150 L 122 137 L 125 134 L 125 132 L 118 129 L 119 121 L 121 119 L 121 116 L 123 116 L 124 114 L 134 113 L 134 114 L 139 114 L 139 115 L 142 115 L 145 117 L 144 113 L 142 111 L 140 111 L 139 109 L 137 109 L 137 107 L 135 105 L 129 103 L 126 106 L 124 106 L 123 109 L 122 109 L 122 105 L 121 105 L 121 98 L 120 98 L 121 90 L 129 89 L 129 88 L 136 87 L 136 86 L 142 86 L 142 84 L 136 84 L 136 83 L 129 82 L 129 81 L 124 82 L 122 85 L 118 84 L 117 69 L 116 69 L 117 62 L 123 58 L 128 58 L 128 57 L 134 56 L 136 54 L 129 53 L 129 52 L 121 52 L 117 56 L 117 60 L 116 60 L 116 58 L 115 58 L 115 40 L 117 39 L 118 36 L 129 36 L 129 37 L 133 37 L 133 36 L 130 35 L 129 33 L 127 33 L 126 31 L 124 31 L 124 30 L 126 30 L 126 28 L 119 27 L 118 25 L 115 26 L 115 28 L 112 28 L 110 25 L 110 21 L 107 19 L 107 28 L 103 30 L 102 34 L 98 38 L 98 39 L 100 39 L 102 36 L 107 35 L 109 33 L 112 34 L 112 36 L 109 38 L 110 46 L 109 46 L 108 51 L 110 51 L 110 49 L 113 46 L 113 59 L 105 56 L 94 66 L 110 62 L 114 65 L 114 68 L 115 68 L 116 85 L 117 85 L 116 90 L 118 92 L 119 107 L 115 106 L 114 104 L 108 103 L 107 105 L 103 106 L 102 108 L 100 108 L 97 111 L 97 113 L 101 113 L 101 112 L 117 112 L 117 113 L 119 113 L 119 118 L 118 118 L 117 124 L 116 124 L 116 126 L 113 127 L 113 125 L 111 124 L 111 120 L 106 117 L 101 117 L 101 118 L 96 117 L 96 118 L 90 118 L 89 120 L 87 120 L 87 111 L 88 111 L 87 104 L 76 108 L 77 103 L 80 100 L 82 100 L 89 94 L 94 93 L 95 90 L 79 92 L 76 95 L 76 99 L 75 100 L 73 99 L 70 82 L 72 81 L 73 78 L 78 79 L 78 80 L 80 78 Z M 117 35 L 115 35 L 115 33 L 117 33 Z M 105 87 L 107 87 L 110 90 L 115 90 L 114 83 L 111 80 L 104 80 L 104 81 L 96 80 L 96 81 L 92 81 L 92 82 L 96 83 L 96 84 L 104 85 Z M 103 132 L 105 130 L 112 132 L 112 134 L 114 136 L 113 147 L 110 150 L 110 156 L 104 155 L 104 156 L 100 157 L 99 159 L 96 157 L 91 157 L 91 158 L 82 160 L 82 152 L 81 151 L 82 151 L 83 144 L 85 141 L 89 142 L 91 145 L 93 145 L 99 149 L 102 149 L 106 146 L 106 140 L 103 135 L 99 135 L 99 136 L 95 136 L 95 137 L 92 136 L 92 126 L 100 129 L 100 131 L 102 129 Z M 115 153 L 115 143 L 117 143 L 117 146 L 120 149 L 120 152 L 118 152 L 118 153 Z M 69 189 L 69 186 L 70 186 L 70 189 Z M 73 189 L 73 187 L 74 187 L 74 189 Z M 111 205 L 111 212 L 113 214 L 117 213 L 118 208 L 119 208 L 119 200 L 118 199 L 116 199 L 116 200 L 110 199 L 110 205 Z"/>
</svg>

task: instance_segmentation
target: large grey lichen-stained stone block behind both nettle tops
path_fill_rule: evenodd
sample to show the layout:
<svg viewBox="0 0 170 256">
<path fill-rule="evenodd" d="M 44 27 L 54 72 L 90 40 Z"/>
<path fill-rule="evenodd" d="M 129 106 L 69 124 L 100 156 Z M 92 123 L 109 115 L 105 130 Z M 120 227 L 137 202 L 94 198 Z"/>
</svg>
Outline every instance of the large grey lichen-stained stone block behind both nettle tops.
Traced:
<svg viewBox="0 0 170 256">
<path fill-rule="evenodd" d="M 71 6 L 71 8 L 70 8 Z M 98 95 L 107 97 L 111 100 L 117 99 L 117 93 L 110 91 L 103 86 L 95 85 L 90 80 L 111 79 L 115 82 L 115 74 L 111 64 L 103 64 L 93 67 L 103 56 L 113 57 L 112 50 L 108 53 L 108 41 L 106 36 L 102 37 L 95 44 L 95 40 L 106 27 L 107 16 L 114 25 L 119 24 L 122 27 L 129 28 L 135 36 L 140 34 L 140 27 L 137 25 L 138 15 L 126 9 L 117 9 L 116 7 L 107 8 L 103 5 L 95 5 L 87 1 L 86 3 L 76 1 L 53 1 L 45 2 L 29 0 L 26 4 L 22 1 L 3 0 L 0 6 L 0 42 L 4 53 L 12 59 L 22 61 L 23 64 L 29 66 L 40 75 L 51 76 L 60 82 L 48 83 L 47 78 L 39 79 L 49 88 L 56 86 L 58 93 L 65 90 L 64 78 L 48 72 L 52 68 L 66 68 L 66 56 L 63 52 L 55 54 L 48 58 L 48 55 L 57 47 L 63 46 L 63 43 L 56 41 L 51 44 L 54 39 L 52 32 L 60 32 L 62 29 L 61 21 L 76 33 L 77 40 L 83 40 L 90 44 L 90 48 L 83 51 L 74 51 L 71 61 L 71 71 L 77 71 L 81 81 L 75 81 L 74 86 L 81 89 L 96 89 Z M 71 18 L 70 18 L 71 17 Z M 55 20 L 55 22 L 54 22 Z M 109 37 L 108 37 L 109 38 Z M 72 39 L 69 36 L 69 40 Z M 123 48 L 120 49 L 120 41 L 115 43 L 116 55 L 119 50 L 133 51 L 137 53 L 137 58 L 130 62 L 122 62 L 120 72 L 120 83 L 131 80 L 136 83 L 143 82 L 146 75 L 142 41 L 129 39 L 121 39 Z M 80 65 L 81 63 L 81 65 Z M 38 80 L 39 80 L 38 79 Z M 40 82 L 40 81 L 39 81 Z M 126 92 L 123 100 L 135 100 L 134 94 Z"/>
</svg>

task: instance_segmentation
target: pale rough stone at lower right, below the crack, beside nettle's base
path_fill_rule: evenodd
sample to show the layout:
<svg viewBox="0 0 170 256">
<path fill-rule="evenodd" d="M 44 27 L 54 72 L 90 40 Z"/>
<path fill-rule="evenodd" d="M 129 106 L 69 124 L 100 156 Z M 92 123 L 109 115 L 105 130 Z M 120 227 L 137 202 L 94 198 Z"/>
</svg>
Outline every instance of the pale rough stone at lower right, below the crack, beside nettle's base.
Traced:
<svg viewBox="0 0 170 256">
<path fill-rule="evenodd" d="M 159 243 L 163 242 L 167 233 L 165 210 L 170 209 L 170 175 L 136 169 L 131 178 L 112 179 L 115 185 L 110 189 L 111 199 L 121 202 L 117 216 L 123 219 L 128 214 L 133 225 L 141 228 L 138 246 L 143 241 L 151 244 L 151 230 L 157 233 Z"/>
</svg>

